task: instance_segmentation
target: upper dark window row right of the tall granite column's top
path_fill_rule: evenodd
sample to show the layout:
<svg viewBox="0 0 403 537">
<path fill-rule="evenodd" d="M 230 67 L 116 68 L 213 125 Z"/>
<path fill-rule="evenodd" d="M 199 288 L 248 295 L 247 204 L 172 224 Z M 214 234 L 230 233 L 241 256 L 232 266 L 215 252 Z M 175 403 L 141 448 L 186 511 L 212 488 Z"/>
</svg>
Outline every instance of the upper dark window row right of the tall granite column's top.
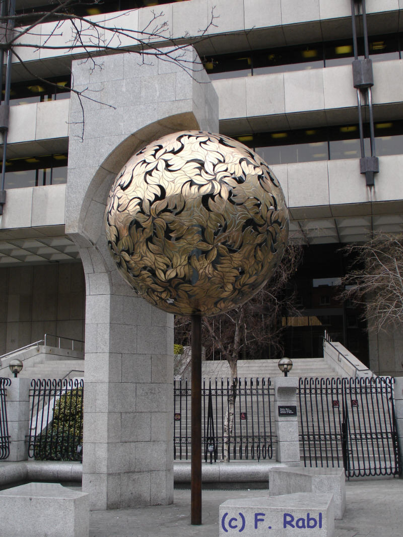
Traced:
<svg viewBox="0 0 403 537">
<path fill-rule="evenodd" d="M 369 53 L 372 61 L 401 59 L 402 47 L 402 33 L 369 37 Z M 359 57 L 364 55 L 362 39 L 358 39 L 358 55 Z M 210 78 L 214 80 L 348 65 L 352 60 L 354 60 L 352 38 L 346 38 L 339 41 L 208 56 L 203 62 Z"/>
</svg>

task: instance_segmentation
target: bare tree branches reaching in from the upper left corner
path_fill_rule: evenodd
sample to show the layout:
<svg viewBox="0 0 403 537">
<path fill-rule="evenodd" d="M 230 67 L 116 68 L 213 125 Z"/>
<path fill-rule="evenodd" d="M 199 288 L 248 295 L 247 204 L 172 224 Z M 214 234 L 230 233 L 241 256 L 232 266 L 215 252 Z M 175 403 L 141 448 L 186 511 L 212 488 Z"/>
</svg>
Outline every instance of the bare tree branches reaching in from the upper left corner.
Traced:
<svg viewBox="0 0 403 537">
<path fill-rule="evenodd" d="M 188 32 L 172 35 L 172 29 L 164 16 L 163 10 L 151 10 L 147 23 L 138 28 L 133 24 L 132 15 L 138 8 L 119 13 L 106 13 L 96 16 L 82 16 L 83 9 L 102 7 L 102 0 L 55 0 L 49 2 L 48 9 L 36 12 L 16 12 L 16 0 L 1 0 L 0 6 L 0 58 L 3 65 L 6 53 L 23 66 L 27 76 L 52 83 L 35 72 L 35 67 L 24 60 L 24 49 L 58 51 L 61 57 L 74 55 L 91 63 L 91 69 L 102 69 L 102 56 L 119 52 L 130 52 L 139 56 L 139 64 L 150 64 L 153 59 L 174 62 L 190 76 L 195 70 L 202 70 L 202 62 L 190 61 L 184 52 L 189 43 L 197 43 L 206 38 L 208 30 L 215 26 L 216 18 L 211 11 L 210 21 L 205 28 L 200 28 L 196 37 Z M 76 89 L 74 80 L 66 88 L 78 98 L 90 99 L 103 103 L 89 92 L 88 88 Z M 8 104 L 8 103 L 6 103 Z M 82 107 L 83 109 L 83 107 Z M 84 110 L 83 110 L 84 115 Z M 84 117 L 83 117 L 84 124 Z"/>
</svg>

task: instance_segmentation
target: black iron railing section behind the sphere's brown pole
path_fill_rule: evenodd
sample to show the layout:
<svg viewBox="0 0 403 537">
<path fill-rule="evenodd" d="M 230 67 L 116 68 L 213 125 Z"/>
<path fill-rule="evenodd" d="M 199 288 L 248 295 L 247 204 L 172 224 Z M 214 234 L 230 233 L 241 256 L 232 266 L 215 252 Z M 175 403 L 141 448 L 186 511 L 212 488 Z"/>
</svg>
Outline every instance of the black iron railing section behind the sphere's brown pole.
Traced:
<svg viewBox="0 0 403 537">
<path fill-rule="evenodd" d="M 202 441 L 205 461 L 271 459 L 274 390 L 270 379 L 203 380 Z M 191 458 L 191 389 L 174 381 L 174 459 Z"/>
</svg>

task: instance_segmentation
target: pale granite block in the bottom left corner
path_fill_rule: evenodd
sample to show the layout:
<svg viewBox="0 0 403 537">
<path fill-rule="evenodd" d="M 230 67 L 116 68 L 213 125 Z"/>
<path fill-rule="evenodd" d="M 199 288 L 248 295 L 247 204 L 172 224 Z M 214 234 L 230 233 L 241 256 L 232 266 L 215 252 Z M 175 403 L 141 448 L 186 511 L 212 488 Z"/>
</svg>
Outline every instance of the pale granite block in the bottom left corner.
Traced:
<svg viewBox="0 0 403 537">
<path fill-rule="evenodd" d="M 88 494 L 57 483 L 0 491 L 2 537 L 88 537 Z"/>
</svg>

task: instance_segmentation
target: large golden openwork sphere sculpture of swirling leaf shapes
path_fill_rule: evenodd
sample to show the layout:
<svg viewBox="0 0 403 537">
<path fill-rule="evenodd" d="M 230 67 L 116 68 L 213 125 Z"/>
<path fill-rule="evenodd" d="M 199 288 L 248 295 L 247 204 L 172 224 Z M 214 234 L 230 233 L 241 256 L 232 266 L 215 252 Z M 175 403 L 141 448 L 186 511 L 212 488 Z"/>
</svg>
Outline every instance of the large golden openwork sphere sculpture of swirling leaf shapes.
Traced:
<svg viewBox="0 0 403 537">
<path fill-rule="evenodd" d="M 131 157 L 105 211 L 111 255 L 155 306 L 215 315 L 257 293 L 288 235 L 281 187 L 262 159 L 227 136 L 187 131 Z"/>
</svg>

